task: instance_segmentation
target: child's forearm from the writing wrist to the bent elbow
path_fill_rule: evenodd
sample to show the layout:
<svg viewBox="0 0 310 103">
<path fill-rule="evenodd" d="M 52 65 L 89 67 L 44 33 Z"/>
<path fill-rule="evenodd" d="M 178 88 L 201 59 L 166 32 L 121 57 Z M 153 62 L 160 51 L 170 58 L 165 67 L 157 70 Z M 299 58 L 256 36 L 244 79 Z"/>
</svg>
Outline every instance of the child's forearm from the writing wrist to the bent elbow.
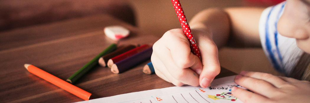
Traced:
<svg viewBox="0 0 310 103">
<path fill-rule="evenodd" d="M 189 23 L 192 29 L 206 30 L 218 48 L 226 45 L 230 26 L 228 14 L 220 9 L 207 9 L 199 12 Z M 195 33 L 193 33 L 195 36 Z M 196 36 L 195 36 L 196 37 Z M 197 38 L 197 37 L 196 37 Z"/>
</svg>

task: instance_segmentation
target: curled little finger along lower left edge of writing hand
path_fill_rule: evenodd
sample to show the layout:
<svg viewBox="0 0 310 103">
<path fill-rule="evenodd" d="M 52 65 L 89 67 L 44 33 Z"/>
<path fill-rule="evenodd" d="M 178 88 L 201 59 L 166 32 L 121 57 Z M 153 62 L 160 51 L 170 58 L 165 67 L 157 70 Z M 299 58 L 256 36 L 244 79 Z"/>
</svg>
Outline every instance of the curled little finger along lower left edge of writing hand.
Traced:
<svg viewBox="0 0 310 103">
<path fill-rule="evenodd" d="M 156 54 L 152 54 L 151 57 L 151 61 L 153 63 L 153 67 L 155 72 L 159 71 L 158 74 L 156 72 L 156 74 L 161 77 L 162 79 L 169 81 L 170 83 L 176 85 L 176 86 L 182 86 L 184 85 L 184 83 L 178 81 L 177 79 L 175 79 L 174 77 L 172 77 L 172 75 L 170 75 L 170 73 L 167 71 L 165 65 L 162 63 L 162 61 L 157 57 Z"/>
</svg>

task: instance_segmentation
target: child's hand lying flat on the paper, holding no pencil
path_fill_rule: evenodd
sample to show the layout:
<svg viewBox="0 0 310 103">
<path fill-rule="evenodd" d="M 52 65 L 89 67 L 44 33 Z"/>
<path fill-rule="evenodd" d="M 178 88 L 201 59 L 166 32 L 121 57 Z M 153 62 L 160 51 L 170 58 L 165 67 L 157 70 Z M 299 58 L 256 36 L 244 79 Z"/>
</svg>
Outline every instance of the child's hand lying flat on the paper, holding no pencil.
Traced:
<svg viewBox="0 0 310 103">
<path fill-rule="evenodd" d="M 310 82 L 260 72 L 242 71 L 232 94 L 244 103 L 309 103 Z M 254 92 L 254 93 L 253 93 Z"/>
</svg>

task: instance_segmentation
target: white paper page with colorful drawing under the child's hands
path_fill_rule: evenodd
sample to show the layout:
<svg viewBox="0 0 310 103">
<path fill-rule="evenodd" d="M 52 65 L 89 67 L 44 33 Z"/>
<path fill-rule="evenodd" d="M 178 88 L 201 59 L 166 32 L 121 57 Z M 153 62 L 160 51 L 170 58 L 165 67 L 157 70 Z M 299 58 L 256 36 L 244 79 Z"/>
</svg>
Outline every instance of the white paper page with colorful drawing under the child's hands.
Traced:
<svg viewBox="0 0 310 103">
<path fill-rule="evenodd" d="M 200 86 L 175 86 L 77 103 L 242 103 L 230 92 L 233 86 L 241 87 L 233 81 L 234 77 L 228 76 L 213 80 L 211 83 L 213 89 L 211 90 L 209 88 L 201 88 Z"/>
</svg>

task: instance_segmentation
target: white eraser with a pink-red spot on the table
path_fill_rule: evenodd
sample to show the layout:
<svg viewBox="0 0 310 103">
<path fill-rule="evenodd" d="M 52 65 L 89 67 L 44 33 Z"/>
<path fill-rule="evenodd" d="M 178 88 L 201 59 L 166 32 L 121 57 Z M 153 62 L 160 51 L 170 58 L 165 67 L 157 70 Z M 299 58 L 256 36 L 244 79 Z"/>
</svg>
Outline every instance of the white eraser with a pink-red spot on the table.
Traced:
<svg viewBox="0 0 310 103">
<path fill-rule="evenodd" d="M 129 35 L 130 31 L 122 26 L 109 26 L 104 28 L 104 34 L 113 40 L 119 40 Z"/>
</svg>

